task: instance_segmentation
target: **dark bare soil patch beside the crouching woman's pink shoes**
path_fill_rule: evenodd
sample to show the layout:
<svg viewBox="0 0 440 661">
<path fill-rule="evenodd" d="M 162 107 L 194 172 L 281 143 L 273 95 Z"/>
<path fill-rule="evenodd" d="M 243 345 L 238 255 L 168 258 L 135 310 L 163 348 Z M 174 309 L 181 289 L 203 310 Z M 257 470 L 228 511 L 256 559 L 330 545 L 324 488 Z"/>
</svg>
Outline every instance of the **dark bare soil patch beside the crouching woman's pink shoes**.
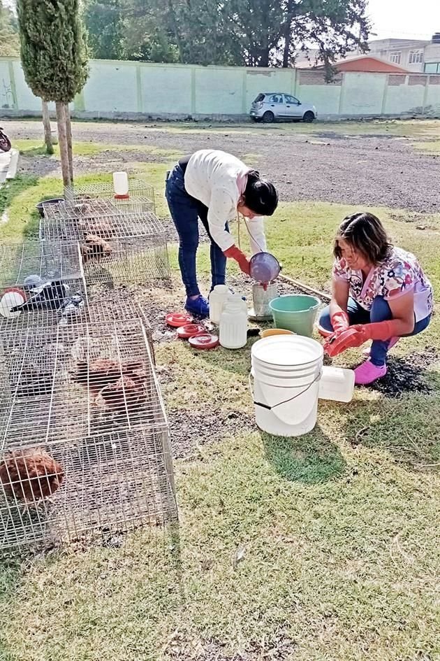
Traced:
<svg viewBox="0 0 440 661">
<path fill-rule="evenodd" d="M 404 392 L 429 393 L 434 390 L 427 381 L 427 369 L 439 362 L 439 350 L 428 346 L 423 353 L 405 358 L 390 356 L 386 376 L 369 386 L 388 397 L 401 397 Z"/>
</svg>

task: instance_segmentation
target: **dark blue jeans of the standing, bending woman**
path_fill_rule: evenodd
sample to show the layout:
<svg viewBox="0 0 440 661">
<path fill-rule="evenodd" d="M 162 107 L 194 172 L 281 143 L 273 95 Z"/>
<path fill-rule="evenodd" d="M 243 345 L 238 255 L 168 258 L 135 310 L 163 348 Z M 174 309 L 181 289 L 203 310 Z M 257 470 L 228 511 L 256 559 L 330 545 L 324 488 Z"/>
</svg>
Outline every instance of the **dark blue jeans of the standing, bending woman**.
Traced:
<svg viewBox="0 0 440 661">
<path fill-rule="evenodd" d="M 211 240 L 212 289 L 226 282 L 226 257 L 212 240 L 207 222 L 207 206 L 191 197 L 185 190 L 184 171 L 177 165 L 166 182 L 166 200 L 171 218 L 179 235 L 179 267 L 186 296 L 200 294 L 197 283 L 196 254 L 198 248 L 198 219 L 203 223 Z M 229 231 L 228 223 L 225 225 Z"/>
</svg>

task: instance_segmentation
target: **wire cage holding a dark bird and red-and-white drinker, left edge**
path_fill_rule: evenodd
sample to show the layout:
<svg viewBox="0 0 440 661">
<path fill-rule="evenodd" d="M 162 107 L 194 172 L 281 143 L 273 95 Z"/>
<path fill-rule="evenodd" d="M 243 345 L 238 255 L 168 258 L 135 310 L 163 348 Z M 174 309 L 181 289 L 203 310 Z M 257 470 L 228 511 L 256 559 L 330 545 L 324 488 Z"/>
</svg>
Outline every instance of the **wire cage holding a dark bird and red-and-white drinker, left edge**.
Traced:
<svg viewBox="0 0 440 661">
<path fill-rule="evenodd" d="M 16 329 L 56 324 L 73 307 L 85 306 L 78 242 L 26 241 L 0 250 L 2 339 Z"/>
</svg>

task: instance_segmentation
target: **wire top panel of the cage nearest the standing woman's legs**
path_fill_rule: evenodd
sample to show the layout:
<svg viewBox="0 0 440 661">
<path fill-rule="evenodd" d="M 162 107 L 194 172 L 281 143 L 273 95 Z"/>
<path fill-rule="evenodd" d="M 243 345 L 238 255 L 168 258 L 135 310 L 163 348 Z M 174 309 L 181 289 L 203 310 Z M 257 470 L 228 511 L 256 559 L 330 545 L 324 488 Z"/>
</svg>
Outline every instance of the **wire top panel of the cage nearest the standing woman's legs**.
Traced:
<svg viewBox="0 0 440 661">
<path fill-rule="evenodd" d="M 45 204 L 43 208 L 42 241 L 87 241 L 88 236 L 103 240 L 150 236 L 160 241 L 166 235 L 152 211 L 119 208 L 108 199 L 64 201 Z"/>
</svg>

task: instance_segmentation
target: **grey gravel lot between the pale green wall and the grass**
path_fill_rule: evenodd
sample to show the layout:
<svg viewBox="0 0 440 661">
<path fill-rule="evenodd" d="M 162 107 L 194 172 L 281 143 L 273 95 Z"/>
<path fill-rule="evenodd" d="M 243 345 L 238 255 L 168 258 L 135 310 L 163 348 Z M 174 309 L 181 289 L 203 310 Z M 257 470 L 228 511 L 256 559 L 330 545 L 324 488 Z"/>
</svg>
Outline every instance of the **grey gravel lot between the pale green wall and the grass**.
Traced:
<svg viewBox="0 0 440 661">
<path fill-rule="evenodd" d="M 4 123 L 4 122 L 3 122 Z M 8 122 L 10 138 L 41 138 L 39 122 Z M 221 148 L 236 155 L 258 156 L 258 169 L 279 188 L 283 201 L 322 200 L 389 206 L 412 212 L 435 212 L 440 207 L 440 156 L 430 156 L 413 148 L 415 138 L 389 135 L 349 135 L 328 131 L 316 134 L 293 129 L 267 131 L 249 127 L 233 132 L 209 131 L 200 126 L 197 132 L 170 132 L 158 125 L 74 123 L 75 140 L 93 143 L 133 145 L 133 151 L 101 153 L 75 159 L 77 172 L 108 171 L 126 162 L 163 162 L 158 155 L 136 149 L 149 145 L 173 152 L 190 153 L 199 148 Z M 165 160 L 168 160 L 165 158 Z M 22 171 L 49 173 L 56 162 L 44 157 L 22 158 Z"/>
</svg>

